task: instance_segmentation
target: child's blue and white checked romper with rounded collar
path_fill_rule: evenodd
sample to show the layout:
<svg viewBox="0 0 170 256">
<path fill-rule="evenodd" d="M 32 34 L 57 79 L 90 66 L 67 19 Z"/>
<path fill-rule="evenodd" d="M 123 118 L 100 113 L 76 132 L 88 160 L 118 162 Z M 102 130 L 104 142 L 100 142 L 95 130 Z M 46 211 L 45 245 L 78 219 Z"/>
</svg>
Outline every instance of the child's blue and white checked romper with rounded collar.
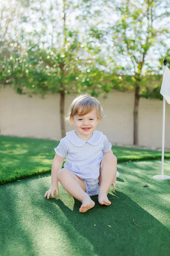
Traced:
<svg viewBox="0 0 170 256">
<path fill-rule="evenodd" d="M 98 195 L 103 152 L 109 151 L 112 145 L 107 137 L 97 130 L 89 140 L 80 139 L 75 132 L 66 132 L 67 136 L 61 139 L 58 147 L 54 149 L 55 153 L 66 157 L 64 168 L 85 182 L 86 193 L 89 196 Z"/>
</svg>

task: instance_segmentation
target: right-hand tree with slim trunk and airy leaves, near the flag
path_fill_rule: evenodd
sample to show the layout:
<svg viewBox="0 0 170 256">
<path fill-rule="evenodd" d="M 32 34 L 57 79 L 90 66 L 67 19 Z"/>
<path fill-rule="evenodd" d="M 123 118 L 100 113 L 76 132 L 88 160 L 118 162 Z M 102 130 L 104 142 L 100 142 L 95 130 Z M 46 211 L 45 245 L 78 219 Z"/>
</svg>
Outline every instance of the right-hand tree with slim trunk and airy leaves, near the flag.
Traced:
<svg viewBox="0 0 170 256">
<path fill-rule="evenodd" d="M 159 59 L 165 58 L 169 37 L 168 1 L 115 1 L 116 24 L 111 26 L 113 43 L 119 54 L 119 75 L 135 90 L 134 144 L 138 144 L 138 107 L 141 96 L 147 96 L 146 80 L 159 74 Z M 161 63 L 162 64 L 162 63 Z M 127 76 L 129 75 L 129 76 Z M 153 77 L 154 79 L 154 77 Z"/>
</svg>

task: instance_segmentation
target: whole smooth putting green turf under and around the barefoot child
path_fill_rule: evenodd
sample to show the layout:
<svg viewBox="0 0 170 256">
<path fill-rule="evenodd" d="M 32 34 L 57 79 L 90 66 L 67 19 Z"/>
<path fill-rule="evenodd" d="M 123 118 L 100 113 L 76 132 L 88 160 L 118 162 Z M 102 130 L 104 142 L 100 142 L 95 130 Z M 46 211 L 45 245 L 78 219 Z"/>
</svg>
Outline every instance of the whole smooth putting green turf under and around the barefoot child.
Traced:
<svg viewBox="0 0 170 256">
<path fill-rule="evenodd" d="M 166 159 L 166 175 L 169 166 Z M 1 186 L 0 255 L 169 255 L 170 180 L 153 179 L 160 170 L 161 160 L 118 163 L 112 204 L 100 205 L 93 196 L 96 205 L 85 213 L 61 185 L 57 198 L 43 197 L 50 174 Z"/>
</svg>

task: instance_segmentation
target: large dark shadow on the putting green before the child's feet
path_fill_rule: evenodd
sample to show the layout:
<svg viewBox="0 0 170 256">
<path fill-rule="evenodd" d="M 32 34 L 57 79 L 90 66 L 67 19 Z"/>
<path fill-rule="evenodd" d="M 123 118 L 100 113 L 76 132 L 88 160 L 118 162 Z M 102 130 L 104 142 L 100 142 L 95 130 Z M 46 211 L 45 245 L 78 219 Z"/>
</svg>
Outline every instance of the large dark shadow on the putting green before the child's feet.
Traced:
<svg viewBox="0 0 170 256">
<path fill-rule="evenodd" d="M 170 249 L 169 230 L 129 196 L 119 191 L 113 194 L 108 194 L 108 197 L 114 196 L 110 207 L 101 206 L 95 197 L 95 208 L 84 215 L 78 213 L 75 216 L 80 206 L 76 199 L 73 211 L 68 212 L 60 199 L 56 204 L 78 236 L 85 237 L 92 244 L 94 255 L 112 255 L 113 252 L 115 255 L 129 255 L 129 252 L 130 255 L 167 255 Z M 70 227 L 66 230 L 70 243 L 76 246 L 77 239 L 71 236 L 72 231 Z"/>
</svg>

